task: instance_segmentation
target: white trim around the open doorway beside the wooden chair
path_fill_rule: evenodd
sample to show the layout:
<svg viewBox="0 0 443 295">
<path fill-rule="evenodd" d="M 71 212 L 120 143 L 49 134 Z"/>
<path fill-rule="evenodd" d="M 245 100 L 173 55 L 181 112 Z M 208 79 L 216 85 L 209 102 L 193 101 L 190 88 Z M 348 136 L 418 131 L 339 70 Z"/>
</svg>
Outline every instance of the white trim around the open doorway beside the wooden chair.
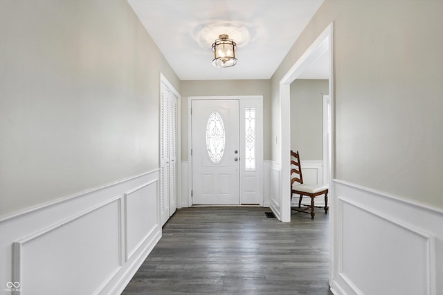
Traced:
<svg viewBox="0 0 443 295">
<path fill-rule="evenodd" d="M 281 183 L 280 183 L 280 218 L 283 222 L 291 221 L 291 195 L 290 178 L 291 165 L 291 114 L 290 101 L 291 83 L 300 76 L 301 73 L 320 55 L 329 49 L 329 95 L 331 98 L 331 109 L 334 110 L 334 24 L 329 23 L 327 28 L 317 37 L 303 55 L 289 69 L 286 75 L 280 80 L 280 164 L 282 165 Z M 332 155 L 334 155 L 334 111 L 331 114 L 332 120 Z M 331 167 L 334 167 L 334 157 L 331 159 Z M 334 169 L 331 168 L 331 178 L 334 178 Z"/>
</svg>

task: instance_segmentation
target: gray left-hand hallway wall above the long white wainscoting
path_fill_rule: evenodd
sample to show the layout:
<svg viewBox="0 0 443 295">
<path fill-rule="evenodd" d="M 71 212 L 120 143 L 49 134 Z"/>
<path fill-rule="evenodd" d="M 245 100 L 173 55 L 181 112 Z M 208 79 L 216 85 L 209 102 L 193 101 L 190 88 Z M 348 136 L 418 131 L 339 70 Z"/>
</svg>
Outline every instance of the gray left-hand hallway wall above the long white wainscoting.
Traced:
<svg viewBox="0 0 443 295">
<path fill-rule="evenodd" d="M 0 1 L 0 216 L 159 166 L 159 75 L 127 1 Z"/>
</svg>

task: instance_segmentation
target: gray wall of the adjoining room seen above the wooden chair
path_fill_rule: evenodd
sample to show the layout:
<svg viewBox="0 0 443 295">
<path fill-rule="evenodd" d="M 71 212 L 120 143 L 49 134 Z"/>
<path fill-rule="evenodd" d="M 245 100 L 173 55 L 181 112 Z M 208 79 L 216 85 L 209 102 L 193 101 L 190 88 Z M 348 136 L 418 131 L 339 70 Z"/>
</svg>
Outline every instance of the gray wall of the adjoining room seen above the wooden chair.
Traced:
<svg viewBox="0 0 443 295">
<path fill-rule="evenodd" d="M 323 160 L 323 94 L 328 80 L 296 79 L 291 84 L 291 149 L 301 160 Z"/>
</svg>

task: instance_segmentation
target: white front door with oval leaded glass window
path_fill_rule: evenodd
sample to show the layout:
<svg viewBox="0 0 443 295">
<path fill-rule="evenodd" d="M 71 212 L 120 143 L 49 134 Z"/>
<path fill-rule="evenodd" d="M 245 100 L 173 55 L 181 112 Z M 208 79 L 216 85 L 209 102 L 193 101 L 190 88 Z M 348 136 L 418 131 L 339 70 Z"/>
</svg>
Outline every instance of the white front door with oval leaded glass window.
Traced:
<svg viewBox="0 0 443 295">
<path fill-rule="evenodd" d="M 193 100 L 192 204 L 239 204 L 239 101 Z"/>
</svg>

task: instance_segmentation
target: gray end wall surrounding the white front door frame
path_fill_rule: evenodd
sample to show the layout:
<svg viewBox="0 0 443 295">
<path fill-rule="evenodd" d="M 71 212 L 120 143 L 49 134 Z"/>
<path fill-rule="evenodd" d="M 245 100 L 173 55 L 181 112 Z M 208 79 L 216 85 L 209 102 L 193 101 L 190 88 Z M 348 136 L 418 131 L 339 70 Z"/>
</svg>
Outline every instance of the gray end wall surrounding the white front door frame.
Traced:
<svg viewBox="0 0 443 295">
<path fill-rule="evenodd" d="M 263 158 L 271 159 L 270 80 L 213 80 L 181 82 L 181 160 L 188 161 L 188 97 L 263 95 Z"/>
</svg>

